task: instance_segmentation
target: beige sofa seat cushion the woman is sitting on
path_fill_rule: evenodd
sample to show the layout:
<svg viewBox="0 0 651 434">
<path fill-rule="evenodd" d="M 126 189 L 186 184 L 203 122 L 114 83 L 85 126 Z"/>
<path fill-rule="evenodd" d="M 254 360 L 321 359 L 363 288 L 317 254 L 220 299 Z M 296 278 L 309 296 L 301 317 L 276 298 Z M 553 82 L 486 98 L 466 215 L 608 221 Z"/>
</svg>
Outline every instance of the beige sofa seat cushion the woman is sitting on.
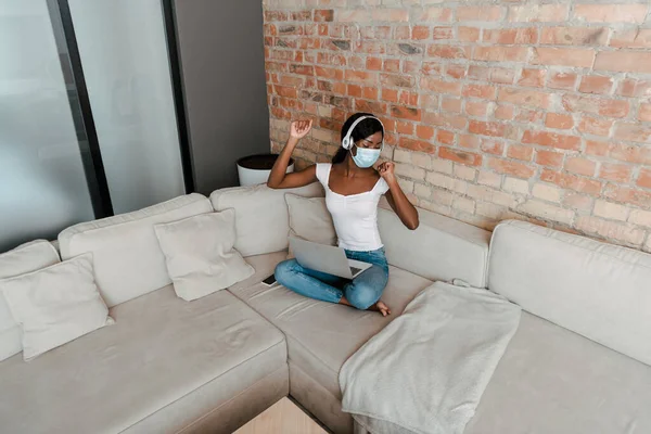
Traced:
<svg viewBox="0 0 651 434">
<path fill-rule="evenodd" d="M 273 272 L 282 254 L 248 258 L 261 275 Z M 339 371 L 371 336 L 400 315 L 407 304 L 432 284 L 399 268 L 390 267 L 388 285 L 382 299 L 392 315 L 362 311 L 298 295 L 283 286 L 269 288 L 261 283 L 234 285 L 229 289 L 283 331 L 288 340 L 289 360 L 341 399 Z"/>
</svg>

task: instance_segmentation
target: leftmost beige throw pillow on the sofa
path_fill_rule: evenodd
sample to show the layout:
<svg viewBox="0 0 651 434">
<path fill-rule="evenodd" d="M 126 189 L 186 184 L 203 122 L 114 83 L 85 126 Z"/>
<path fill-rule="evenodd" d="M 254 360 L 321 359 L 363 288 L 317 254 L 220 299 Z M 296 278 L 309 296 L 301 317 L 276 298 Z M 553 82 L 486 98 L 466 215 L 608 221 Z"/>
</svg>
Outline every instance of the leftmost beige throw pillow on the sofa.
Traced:
<svg viewBox="0 0 651 434">
<path fill-rule="evenodd" d="M 23 357 L 112 324 L 92 271 L 92 254 L 0 281 L 9 309 L 23 327 Z"/>
</svg>

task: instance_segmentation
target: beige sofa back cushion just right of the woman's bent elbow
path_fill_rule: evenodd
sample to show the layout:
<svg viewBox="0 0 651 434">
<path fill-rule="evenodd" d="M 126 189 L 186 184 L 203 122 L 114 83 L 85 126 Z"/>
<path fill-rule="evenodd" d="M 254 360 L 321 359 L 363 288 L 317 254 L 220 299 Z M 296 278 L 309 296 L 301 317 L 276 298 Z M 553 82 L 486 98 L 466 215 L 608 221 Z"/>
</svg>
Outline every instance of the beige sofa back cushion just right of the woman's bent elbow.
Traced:
<svg viewBox="0 0 651 434">
<path fill-rule="evenodd" d="M 420 226 L 411 231 L 381 204 L 378 225 L 388 263 L 430 280 L 486 286 L 490 232 L 425 209 L 418 214 Z"/>
</svg>

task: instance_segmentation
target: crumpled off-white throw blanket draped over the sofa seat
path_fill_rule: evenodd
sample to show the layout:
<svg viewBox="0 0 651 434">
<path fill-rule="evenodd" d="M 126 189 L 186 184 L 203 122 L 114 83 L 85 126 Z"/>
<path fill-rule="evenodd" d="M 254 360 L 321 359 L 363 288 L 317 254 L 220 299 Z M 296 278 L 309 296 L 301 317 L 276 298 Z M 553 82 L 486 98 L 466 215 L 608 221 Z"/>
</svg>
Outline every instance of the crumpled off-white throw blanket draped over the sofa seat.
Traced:
<svg viewBox="0 0 651 434">
<path fill-rule="evenodd" d="M 487 290 L 437 282 L 343 366 L 356 433 L 461 434 L 520 323 Z"/>
</svg>

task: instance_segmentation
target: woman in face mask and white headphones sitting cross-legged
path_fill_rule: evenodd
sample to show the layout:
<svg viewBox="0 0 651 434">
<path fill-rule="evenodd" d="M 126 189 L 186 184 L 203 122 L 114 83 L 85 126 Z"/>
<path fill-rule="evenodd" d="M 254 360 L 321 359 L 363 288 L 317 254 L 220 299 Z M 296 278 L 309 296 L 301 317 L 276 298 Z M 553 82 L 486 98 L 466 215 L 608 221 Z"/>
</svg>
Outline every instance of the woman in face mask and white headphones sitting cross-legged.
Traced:
<svg viewBox="0 0 651 434">
<path fill-rule="evenodd" d="M 380 301 L 388 281 L 388 264 L 378 230 L 378 202 L 385 194 L 403 224 L 418 227 L 418 213 L 398 184 L 393 163 L 373 165 L 380 157 L 384 126 L 375 116 L 357 113 L 342 128 L 342 148 L 332 164 L 317 164 L 285 174 L 290 156 L 311 129 L 311 120 L 292 123 L 290 139 L 271 169 L 267 186 L 291 189 L 317 180 L 326 190 L 326 205 L 332 215 L 339 245 L 349 259 L 372 264 L 352 281 L 302 267 L 295 259 L 276 268 L 276 279 L 285 288 L 307 297 L 339 303 L 358 309 L 378 310 L 383 316 L 390 308 Z"/>
</svg>

